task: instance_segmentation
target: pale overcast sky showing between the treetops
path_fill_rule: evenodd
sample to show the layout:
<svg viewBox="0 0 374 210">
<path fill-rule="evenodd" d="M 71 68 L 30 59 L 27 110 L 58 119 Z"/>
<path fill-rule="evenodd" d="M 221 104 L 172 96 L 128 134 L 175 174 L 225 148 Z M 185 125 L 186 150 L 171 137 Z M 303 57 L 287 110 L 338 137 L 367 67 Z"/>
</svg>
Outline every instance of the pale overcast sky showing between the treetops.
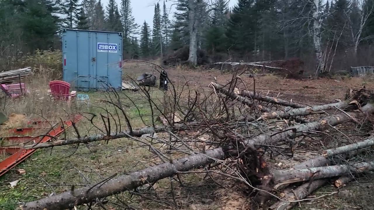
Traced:
<svg viewBox="0 0 374 210">
<path fill-rule="evenodd" d="M 104 8 L 107 6 L 109 0 L 101 0 Z M 157 1 L 160 2 L 160 6 L 162 9 L 163 0 L 131 0 L 131 6 L 132 6 L 132 15 L 135 18 L 135 21 L 142 25 L 144 21 L 147 21 L 148 25 L 152 27 L 152 21 L 153 21 L 153 14 L 154 14 L 154 4 L 157 3 Z M 121 0 L 116 0 L 118 4 L 118 8 L 120 9 L 120 2 Z M 236 4 L 237 0 L 230 0 L 229 7 L 233 7 Z M 166 7 L 170 11 L 169 18 L 172 19 L 173 12 L 175 12 L 175 5 L 173 5 L 173 1 L 165 0 Z"/>
</svg>

